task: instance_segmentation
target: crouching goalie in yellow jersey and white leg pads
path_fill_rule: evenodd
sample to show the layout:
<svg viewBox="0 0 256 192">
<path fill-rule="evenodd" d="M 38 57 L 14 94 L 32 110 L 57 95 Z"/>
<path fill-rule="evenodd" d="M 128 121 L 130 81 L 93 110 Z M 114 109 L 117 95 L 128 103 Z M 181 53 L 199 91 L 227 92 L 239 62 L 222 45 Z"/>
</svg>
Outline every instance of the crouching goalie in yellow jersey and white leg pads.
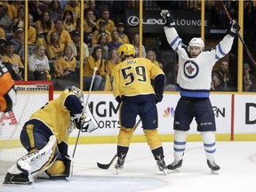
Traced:
<svg viewBox="0 0 256 192">
<path fill-rule="evenodd" d="M 4 184 L 29 185 L 43 174 L 49 179 L 70 178 L 73 159 L 68 156 L 68 134 L 73 127 L 81 132 L 98 128 L 89 108 L 84 108 L 83 92 L 76 86 L 68 87 L 24 124 L 20 142 L 28 154 L 12 165 Z"/>
</svg>

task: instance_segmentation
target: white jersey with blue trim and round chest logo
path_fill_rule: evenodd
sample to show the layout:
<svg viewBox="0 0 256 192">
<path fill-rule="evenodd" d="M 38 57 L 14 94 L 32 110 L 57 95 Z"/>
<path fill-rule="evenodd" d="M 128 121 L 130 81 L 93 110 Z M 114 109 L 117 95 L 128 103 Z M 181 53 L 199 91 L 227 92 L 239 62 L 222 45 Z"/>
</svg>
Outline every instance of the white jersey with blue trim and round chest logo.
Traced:
<svg viewBox="0 0 256 192">
<path fill-rule="evenodd" d="M 175 28 L 164 27 L 165 36 L 172 49 L 179 54 L 177 84 L 184 97 L 208 98 L 212 82 L 212 67 L 230 50 L 234 37 L 225 36 L 214 49 L 201 52 L 196 58 L 189 58 L 187 46 Z"/>
</svg>

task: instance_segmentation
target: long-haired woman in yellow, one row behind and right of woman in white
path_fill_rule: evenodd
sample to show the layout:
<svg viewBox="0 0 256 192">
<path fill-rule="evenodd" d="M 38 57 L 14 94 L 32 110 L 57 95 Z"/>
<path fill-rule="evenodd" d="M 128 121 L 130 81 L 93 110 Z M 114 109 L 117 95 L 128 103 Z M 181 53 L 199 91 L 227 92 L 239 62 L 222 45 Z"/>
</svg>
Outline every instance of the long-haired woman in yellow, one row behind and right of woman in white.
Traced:
<svg viewBox="0 0 256 192">
<path fill-rule="evenodd" d="M 60 36 L 56 31 L 51 33 L 50 39 L 50 44 L 46 48 L 47 56 L 49 60 L 56 60 L 62 56 L 64 45 L 60 44 Z"/>
</svg>

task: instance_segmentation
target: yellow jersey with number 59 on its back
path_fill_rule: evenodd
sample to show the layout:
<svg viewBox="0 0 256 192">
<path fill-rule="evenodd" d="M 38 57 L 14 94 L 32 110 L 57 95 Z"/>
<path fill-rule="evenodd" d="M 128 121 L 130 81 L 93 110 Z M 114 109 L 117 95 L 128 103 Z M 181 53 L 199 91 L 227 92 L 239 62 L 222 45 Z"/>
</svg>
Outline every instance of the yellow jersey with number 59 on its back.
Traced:
<svg viewBox="0 0 256 192">
<path fill-rule="evenodd" d="M 138 96 L 155 94 L 151 79 L 163 74 L 161 68 L 156 67 L 150 60 L 135 58 L 124 60 L 113 69 L 113 93 L 117 96 Z"/>
</svg>

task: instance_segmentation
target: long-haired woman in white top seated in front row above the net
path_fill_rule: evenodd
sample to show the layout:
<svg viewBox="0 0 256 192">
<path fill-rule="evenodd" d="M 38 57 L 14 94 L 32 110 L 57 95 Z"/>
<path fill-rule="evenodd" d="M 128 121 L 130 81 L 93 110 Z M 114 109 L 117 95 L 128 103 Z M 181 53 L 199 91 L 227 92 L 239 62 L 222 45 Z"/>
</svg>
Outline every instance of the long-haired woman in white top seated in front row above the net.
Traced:
<svg viewBox="0 0 256 192">
<path fill-rule="evenodd" d="M 49 60 L 45 55 L 43 44 L 36 45 L 36 52 L 28 59 L 29 71 L 33 74 L 29 80 L 51 80 Z"/>
</svg>

